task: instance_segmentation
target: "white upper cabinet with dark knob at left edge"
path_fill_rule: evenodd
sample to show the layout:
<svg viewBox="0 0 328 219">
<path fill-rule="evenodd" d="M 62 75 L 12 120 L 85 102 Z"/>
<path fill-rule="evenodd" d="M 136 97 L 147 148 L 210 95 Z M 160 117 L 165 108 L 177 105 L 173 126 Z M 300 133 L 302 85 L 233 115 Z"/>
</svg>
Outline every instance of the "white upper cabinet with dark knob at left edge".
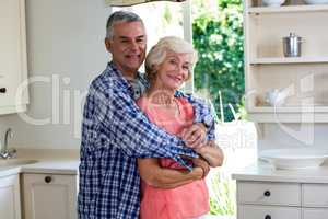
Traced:
<svg viewBox="0 0 328 219">
<path fill-rule="evenodd" d="M 28 103 L 25 0 L 0 0 L 0 114 Z"/>
</svg>

